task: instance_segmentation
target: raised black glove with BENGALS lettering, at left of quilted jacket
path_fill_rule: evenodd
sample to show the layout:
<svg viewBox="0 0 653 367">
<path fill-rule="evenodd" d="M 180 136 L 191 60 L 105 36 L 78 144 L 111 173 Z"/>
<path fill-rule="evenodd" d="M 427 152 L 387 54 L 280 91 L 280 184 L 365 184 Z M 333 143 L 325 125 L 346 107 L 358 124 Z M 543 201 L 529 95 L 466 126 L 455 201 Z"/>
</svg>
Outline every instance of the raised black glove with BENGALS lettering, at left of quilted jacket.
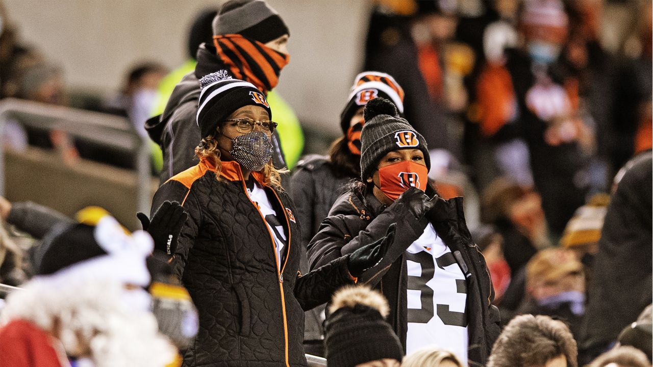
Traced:
<svg viewBox="0 0 653 367">
<path fill-rule="evenodd" d="M 136 217 L 143 226 L 143 231 L 148 231 L 152 236 L 154 249 L 172 255 L 177 248 L 179 232 L 188 217 L 182 206 L 176 201 L 165 201 L 152 215 L 151 220 L 142 212 L 136 213 Z"/>
</svg>

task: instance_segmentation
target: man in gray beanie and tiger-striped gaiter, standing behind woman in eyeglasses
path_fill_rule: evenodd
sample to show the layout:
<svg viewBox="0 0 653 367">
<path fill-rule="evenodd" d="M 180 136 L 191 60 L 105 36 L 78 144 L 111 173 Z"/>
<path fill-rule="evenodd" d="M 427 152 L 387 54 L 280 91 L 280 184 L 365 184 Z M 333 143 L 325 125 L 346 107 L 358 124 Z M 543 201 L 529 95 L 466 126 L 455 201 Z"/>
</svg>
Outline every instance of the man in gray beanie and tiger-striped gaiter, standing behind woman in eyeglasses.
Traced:
<svg viewBox="0 0 653 367">
<path fill-rule="evenodd" d="M 195 146 L 200 132 L 195 123 L 200 96 L 199 79 L 225 70 L 234 79 L 245 80 L 268 97 L 279 81 L 281 69 L 289 62 L 286 44 L 288 27 L 279 14 L 264 0 L 231 0 L 220 8 L 212 23 L 213 41 L 200 45 L 195 71 L 186 74 L 177 84 L 163 114 L 150 118 L 146 130 L 163 152 L 163 168 L 159 182 L 197 165 Z M 279 98 L 269 99 L 283 104 Z M 287 106 L 284 106 L 288 108 Z M 281 108 L 279 108 L 281 109 Z M 292 114 L 291 114 L 292 115 Z M 281 125 L 295 116 L 278 119 Z M 283 128 L 280 128 L 283 130 Z M 302 144 L 303 136 L 295 139 Z M 286 167 L 278 133 L 272 136 L 274 166 Z"/>
</svg>

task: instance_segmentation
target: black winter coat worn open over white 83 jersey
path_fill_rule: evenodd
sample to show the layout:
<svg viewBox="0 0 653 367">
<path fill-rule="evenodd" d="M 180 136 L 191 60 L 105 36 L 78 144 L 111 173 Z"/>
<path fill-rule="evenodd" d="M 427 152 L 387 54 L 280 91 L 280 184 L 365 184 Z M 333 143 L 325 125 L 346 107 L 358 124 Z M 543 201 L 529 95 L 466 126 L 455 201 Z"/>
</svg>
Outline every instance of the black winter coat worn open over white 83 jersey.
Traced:
<svg viewBox="0 0 653 367">
<path fill-rule="evenodd" d="M 432 189 L 428 189 L 433 195 Z M 311 268 L 318 268 L 384 236 L 391 223 L 396 223 L 394 244 L 381 263 L 358 277 L 380 289 L 390 304 L 388 320 L 406 349 L 407 334 L 407 270 L 406 249 L 428 225 L 451 249 L 466 275 L 470 366 L 483 366 L 499 335 L 499 311 L 493 306 L 494 289 L 481 251 L 471 239 L 462 210 L 462 198 L 438 200 L 425 217 L 414 219 L 401 202 L 386 207 L 372 193 L 360 197 L 351 191 L 338 199 L 320 231 L 308 245 Z"/>
</svg>

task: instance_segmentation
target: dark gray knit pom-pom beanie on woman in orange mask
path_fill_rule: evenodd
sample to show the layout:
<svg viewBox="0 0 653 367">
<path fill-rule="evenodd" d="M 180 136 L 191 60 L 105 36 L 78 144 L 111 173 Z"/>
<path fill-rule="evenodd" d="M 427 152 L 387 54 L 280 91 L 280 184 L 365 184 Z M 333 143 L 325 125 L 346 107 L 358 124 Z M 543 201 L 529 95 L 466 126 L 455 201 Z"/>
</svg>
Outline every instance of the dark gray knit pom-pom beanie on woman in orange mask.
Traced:
<svg viewBox="0 0 653 367">
<path fill-rule="evenodd" d="M 424 136 L 403 118 L 397 108 L 384 98 L 372 99 L 363 110 L 365 123 L 360 133 L 360 178 L 365 181 L 389 152 L 400 149 L 419 149 L 424 153 L 426 168 L 431 160 Z"/>
</svg>

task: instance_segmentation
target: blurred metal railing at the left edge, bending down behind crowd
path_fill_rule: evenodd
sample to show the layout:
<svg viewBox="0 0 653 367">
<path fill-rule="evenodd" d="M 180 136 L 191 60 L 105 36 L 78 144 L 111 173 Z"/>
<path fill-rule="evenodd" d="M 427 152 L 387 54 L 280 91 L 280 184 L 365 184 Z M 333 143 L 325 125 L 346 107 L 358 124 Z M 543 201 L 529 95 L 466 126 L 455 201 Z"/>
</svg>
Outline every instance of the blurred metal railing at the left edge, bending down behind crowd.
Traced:
<svg viewBox="0 0 653 367">
<path fill-rule="evenodd" d="M 44 131 L 61 130 L 70 136 L 134 153 L 136 157 L 136 207 L 150 212 L 150 143 L 134 125 L 120 116 L 53 106 L 52 104 L 3 99 L 0 101 L 0 135 L 7 121 Z M 0 149 L 0 195 L 5 195 L 5 159 Z"/>
</svg>

